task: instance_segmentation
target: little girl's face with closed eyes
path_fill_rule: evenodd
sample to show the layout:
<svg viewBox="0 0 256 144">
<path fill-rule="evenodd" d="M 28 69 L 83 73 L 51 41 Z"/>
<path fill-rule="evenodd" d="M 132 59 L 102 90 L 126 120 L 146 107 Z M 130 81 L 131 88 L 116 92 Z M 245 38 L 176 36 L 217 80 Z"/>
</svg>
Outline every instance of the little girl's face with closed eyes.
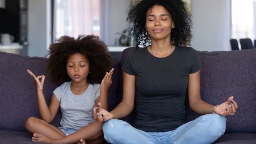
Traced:
<svg viewBox="0 0 256 144">
<path fill-rule="evenodd" d="M 66 64 L 68 76 L 73 82 L 87 81 L 89 74 L 89 60 L 86 56 L 76 53 L 69 56 Z"/>
</svg>

